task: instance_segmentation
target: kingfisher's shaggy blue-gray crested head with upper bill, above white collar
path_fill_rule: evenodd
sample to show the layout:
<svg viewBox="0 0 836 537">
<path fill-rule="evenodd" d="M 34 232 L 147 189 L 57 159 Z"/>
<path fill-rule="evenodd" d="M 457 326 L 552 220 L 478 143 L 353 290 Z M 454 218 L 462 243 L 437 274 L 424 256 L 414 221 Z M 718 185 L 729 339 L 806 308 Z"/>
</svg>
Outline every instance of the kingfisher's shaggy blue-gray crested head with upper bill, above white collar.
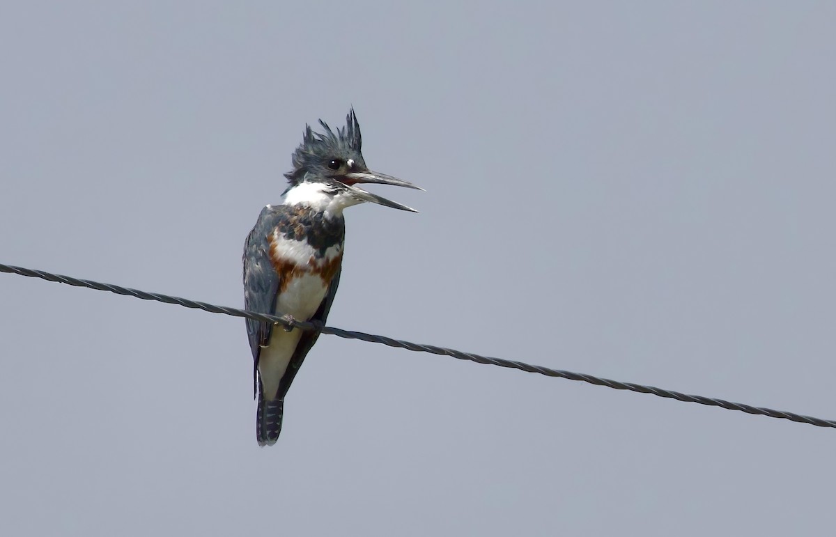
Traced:
<svg viewBox="0 0 836 537">
<path fill-rule="evenodd" d="M 397 177 L 371 171 L 360 152 L 362 138 L 354 109 L 349 111 L 345 122 L 343 128 L 334 132 L 327 123 L 319 120 L 323 133 L 314 132 L 310 125 L 305 125 L 302 143 L 293 151 L 293 171 L 284 174 L 290 183 L 288 191 L 304 182 L 306 176 L 333 179 L 349 187 L 358 183 L 380 183 L 424 190 Z"/>
</svg>

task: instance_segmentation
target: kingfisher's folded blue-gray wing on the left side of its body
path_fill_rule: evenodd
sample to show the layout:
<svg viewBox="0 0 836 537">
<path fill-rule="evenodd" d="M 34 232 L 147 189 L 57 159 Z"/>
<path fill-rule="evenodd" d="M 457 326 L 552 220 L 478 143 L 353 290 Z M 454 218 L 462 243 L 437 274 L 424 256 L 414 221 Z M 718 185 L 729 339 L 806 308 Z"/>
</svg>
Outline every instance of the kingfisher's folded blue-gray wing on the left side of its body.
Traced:
<svg viewBox="0 0 836 537">
<path fill-rule="evenodd" d="M 258 215 L 256 225 L 244 243 L 244 309 L 274 315 L 278 294 L 278 274 L 270 262 L 270 236 L 281 217 L 283 206 L 267 206 Z M 247 319 L 247 335 L 252 359 L 258 364 L 262 345 L 273 334 L 273 323 Z"/>
</svg>

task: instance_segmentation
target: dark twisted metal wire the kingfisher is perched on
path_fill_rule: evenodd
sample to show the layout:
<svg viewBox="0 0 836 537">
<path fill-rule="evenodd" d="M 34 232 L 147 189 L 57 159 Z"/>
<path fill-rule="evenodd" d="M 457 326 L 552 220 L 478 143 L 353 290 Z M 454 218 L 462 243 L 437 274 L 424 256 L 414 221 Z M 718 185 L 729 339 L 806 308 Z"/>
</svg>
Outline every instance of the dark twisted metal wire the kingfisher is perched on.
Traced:
<svg viewBox="0 0 836 537">
<path fill-rule="evenodd" d="M 186 308 L 202 309 L 209 313 L 232 315 L 233 317 L 247 317 L 253 320 L 265 321 L 268 323 L 278 323 L 288 326 L 289 328 L 298 328 L 301 330 L 321 330 L 323 334 L 337 335 L 341 338 L 349 340 L 368 341 L 370 343 L 379 343 L 381 345 L 389 345 L 400 349 L 413 350 L 415 352 L 429 352 L 434 355 L 452 356 L 459 360 L 475 361 L 477 364 L 489 364 L 491 366 L 507 367 L 510 369 L 518 369 L 520 371 L 528 371 L 529 373 L 539 373 L 545 376 L 556 376 L 570 381 L 582 381 L 594 384 L 596 386 L 607 386 L 614 390 L 628 390 L 637 391 L 639 393 L 649 393 L 650 395 L 665 397 L 668 399 L 675 399 L 677 401 L 693 402 L 708 407 L 721 407 L 726 410 L 735 410 L 738 412 L 746 412 L 747 414 L 756 414 L 760 416 L 775 417 L 778 419 L 790 420 L 798 423 L 808 423 L 816 427 L 833 427 L 836 428 L 836 421 L 825 420 L 818 417 L 803 416 L 793 412 L 783 412 L 779 410 L 772 410 L 771 408 L 752 407 L 743 403 L 736 403 L 732 401 L 724 401 L 722 399 L 715 399 L 706 396 L 691 396 L 679 391 L 664 390 L 654 386 L 643 386 L 641 384 L 634 384 L 633 382 L 611 381 L 609 379 L 601 378 L 599 376 L 586 375 L 584 373 L 574 373 L 572 371 L 563 371 L 559 369 L 550 369 L 543 366 L 533 366 L 521 361 L 505 360 L 504 358 L 492 358 L 490 356 L 475 355 L 470 352 L 462 352 L 461 350 L 446 349 L 444 347 L 437 347 L 436 345 L 419 345 L 417 343 L 410 343 L 409 341 L 395 340 L 383 335 L 365 334 L 364 332 L 355 332 L 353 330 L 342 330 L 334 328 L 333 326 L 322 326 L 319 323 L 312 323 L 301 320 L 293 320 L 284 316 L 264 315 L 254 311 L 247 311 L 246 309 L 230 308 L 227 306 L 218 306 L 215 304 L 208 304 L 206 302 L 198 302 L 196 300 L 181 299 L 176 296 L 167 294 L 148 293 L 138 289 L 130 289 L 121 287 L 120 285 L 102 284 L 94 282 L 89 279 L 78 279 L 71 276 L 63 276 L 61 274 L 51 274 L 43 270 L 33 270 L 32 268 L 14 267 L 0 263 L 0 272 L 19 274 L 21 276 L 28 276 L 30 278 L 45 279 L 50 282 L 58 282 L 59 284 L 74 285 L 75 287 L 85 287 L 88 289 L 97 289 L 99 291 L 110 291 L 115 294 L 125 294 L 133 296 L 137 299 L 155 300 L 157 302 L 164 302 L 166 304 L 179 304 Z"/>
</svg>

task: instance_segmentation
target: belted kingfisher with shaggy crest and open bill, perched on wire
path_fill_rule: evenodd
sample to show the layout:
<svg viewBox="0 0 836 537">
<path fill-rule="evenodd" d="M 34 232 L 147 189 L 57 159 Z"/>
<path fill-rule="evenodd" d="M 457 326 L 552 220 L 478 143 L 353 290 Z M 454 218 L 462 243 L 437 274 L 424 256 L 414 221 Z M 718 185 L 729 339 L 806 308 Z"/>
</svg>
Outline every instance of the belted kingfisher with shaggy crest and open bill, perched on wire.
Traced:
<svg viewBox="0 0 836 537">
<path fill-rule="evenodd" d="M 339 285 L 346 207 L 373 202 L 403 211 L 415 209 L 366 192 L 358 183 L 415 187 L 370 171 L 360 153 L 360 127 L 354 109 L 336 132 L 323 121 L 319 134 L 305 125 L 293 152 L 293 171 L 284 202 L 264 207 L 244 244 L 244 306 L 268 315 L 325 324 Z M 258 398 L 256 438 L 273 445 L 282 431 L 284 397 L 318 331 L 288 330 L 247 319 Z"/>
</svg>

